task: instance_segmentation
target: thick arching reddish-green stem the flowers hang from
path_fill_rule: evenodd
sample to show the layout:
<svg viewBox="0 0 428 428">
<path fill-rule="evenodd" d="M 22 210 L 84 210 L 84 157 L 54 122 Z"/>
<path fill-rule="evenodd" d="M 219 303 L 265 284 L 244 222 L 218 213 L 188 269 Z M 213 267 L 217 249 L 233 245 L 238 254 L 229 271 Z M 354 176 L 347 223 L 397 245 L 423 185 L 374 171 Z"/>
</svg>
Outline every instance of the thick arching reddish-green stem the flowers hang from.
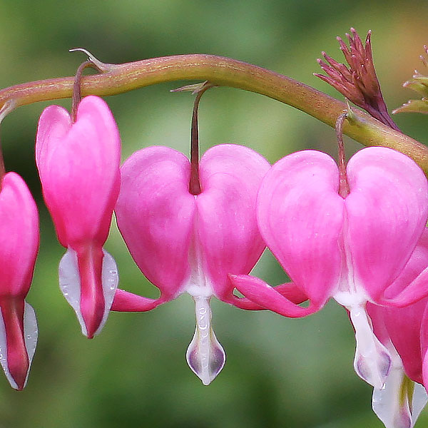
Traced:
<svg viewBox="0 0 428 428">
<path fill-rule="evenodd" d="M 338 116 L 347 110 L 342 101 L 327 96 L 303 83 L 249 63 L 214 55 L 192 54 L 151 58 L 133 63 L 108 64 L 106 72 L 81 79 L 82 95 L 114 95 L 166 81 L 210 81 L 260 93 L 289 104 L 334 127 Z M 69 98 L 73 77 L 53 78 L 11 86 L 0 91 L 0 108 L 9 99 L 16 106 Z M 387 146 L 407 154 L 428 172 L 428 148 L 362 111 L 354 121 L 346 121 L 343 133 L 365 146 Z"/>
</svg>

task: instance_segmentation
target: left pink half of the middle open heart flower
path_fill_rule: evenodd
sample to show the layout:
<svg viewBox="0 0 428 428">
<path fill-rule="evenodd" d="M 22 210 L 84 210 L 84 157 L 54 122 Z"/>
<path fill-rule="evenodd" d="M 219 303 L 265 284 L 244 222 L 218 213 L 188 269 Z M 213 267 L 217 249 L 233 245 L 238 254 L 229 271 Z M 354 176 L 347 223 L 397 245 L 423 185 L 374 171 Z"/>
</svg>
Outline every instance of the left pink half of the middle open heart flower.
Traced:
<svg viewBox="0 0 428 428">
<path fill-rule="evenodd" d="M 121 168 L 118 227 L 138 267 L 166 299 L 190 276 L 195 197 L 189 176 L 188 159 L 161 146 L 133 153 Z"/>
</svg>

